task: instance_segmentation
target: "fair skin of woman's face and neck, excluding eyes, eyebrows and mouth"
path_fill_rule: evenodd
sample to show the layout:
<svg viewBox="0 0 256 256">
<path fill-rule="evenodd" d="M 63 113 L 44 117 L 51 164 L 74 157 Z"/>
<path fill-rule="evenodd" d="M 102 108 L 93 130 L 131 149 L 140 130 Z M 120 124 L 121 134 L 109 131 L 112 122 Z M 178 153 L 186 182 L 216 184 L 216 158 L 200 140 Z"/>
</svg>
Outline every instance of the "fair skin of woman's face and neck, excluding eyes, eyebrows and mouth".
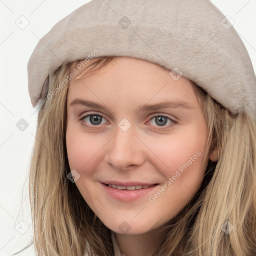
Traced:
<svg viewBox="0 0 256 256">
<path fill-rule="evenodd" d="M 75 98 L 96 102 L 104 109 L 70 106 Z M 136 110 L 140 105 L 174 99 L 193 108 Z M 89 117 L 79 120 L 87 114 L 102 115 L 101 123 L 95 125 Z M 177 123 L 167 119 L 165 125 L 159 125 L 155 117 L 162 114 Z M 131 124 L 125 132 L 118 126 L 123 118 Z M 196 193 L 206 168 L 202 163 L 207 136 L 207 123 L 192 83 L 183 76 L 175 81 L 157 64 L 117 57 L 99 71 L 70 81 L 66 127 L 70 169 L 80 175 L 75 184 L 84 200 L 114 231 L 118 246 L 127 255 L 151 255 L 164 235 L 160 227 Z M 198 151 L 200 156 L 158 198 L 149 201 L 149 196 Z M 216 160 L 216 151 L 206 157 Z M 141 180 L 159 185 L 150 194 L 124 202 L 105 192 L 100 183 L 103 180 Z M 123 221 L 129 225 L 127 233 L 118 228 Z"/>
</svg>

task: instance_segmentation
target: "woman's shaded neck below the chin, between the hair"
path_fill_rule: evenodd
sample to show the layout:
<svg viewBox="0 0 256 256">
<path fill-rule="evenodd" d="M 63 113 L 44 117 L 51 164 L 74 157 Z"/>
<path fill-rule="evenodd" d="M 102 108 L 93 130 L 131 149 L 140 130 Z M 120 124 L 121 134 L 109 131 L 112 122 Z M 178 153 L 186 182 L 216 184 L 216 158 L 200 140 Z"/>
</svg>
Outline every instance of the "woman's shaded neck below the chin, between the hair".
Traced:
<svg viewBox="0 0 256 256">
<path fill-rule="evenodd" d="M 123 256 L 152 256 L 160 245 L 165 232 L 154 229 L 142 234 L 114 233 Z"/>
</svg>

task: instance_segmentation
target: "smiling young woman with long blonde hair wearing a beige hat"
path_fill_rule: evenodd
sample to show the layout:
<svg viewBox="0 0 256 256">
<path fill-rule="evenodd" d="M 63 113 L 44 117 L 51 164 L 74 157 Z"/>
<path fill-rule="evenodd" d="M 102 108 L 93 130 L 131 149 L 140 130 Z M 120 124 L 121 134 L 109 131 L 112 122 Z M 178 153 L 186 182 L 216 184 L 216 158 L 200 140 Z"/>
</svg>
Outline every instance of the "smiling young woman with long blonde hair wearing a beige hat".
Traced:
<svg viewBox="0 0 256 256">
<path fill-rule="evenodd" d="M 92 0 L 28 82 L 38 255 L 255 255 L 255 75 L 210 2 Z"/>
</svg>

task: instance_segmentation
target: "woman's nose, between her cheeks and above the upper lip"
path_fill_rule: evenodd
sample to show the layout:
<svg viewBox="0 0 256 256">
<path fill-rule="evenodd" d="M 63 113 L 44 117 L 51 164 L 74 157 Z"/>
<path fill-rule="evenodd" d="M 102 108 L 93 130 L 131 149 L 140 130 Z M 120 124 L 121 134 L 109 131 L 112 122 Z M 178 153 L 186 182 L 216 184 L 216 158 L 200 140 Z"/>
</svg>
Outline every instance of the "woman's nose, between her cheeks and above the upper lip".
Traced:
<svg viewBox="0 0 256 256">
<path fill-rule="evenodd" d="M 132 126 L 126 131 L 117 126 L 115 135 L 107 143 L 104 159 L 117 170 L 127 170 L 144 162 L 144 149 Z"/>
</svg>

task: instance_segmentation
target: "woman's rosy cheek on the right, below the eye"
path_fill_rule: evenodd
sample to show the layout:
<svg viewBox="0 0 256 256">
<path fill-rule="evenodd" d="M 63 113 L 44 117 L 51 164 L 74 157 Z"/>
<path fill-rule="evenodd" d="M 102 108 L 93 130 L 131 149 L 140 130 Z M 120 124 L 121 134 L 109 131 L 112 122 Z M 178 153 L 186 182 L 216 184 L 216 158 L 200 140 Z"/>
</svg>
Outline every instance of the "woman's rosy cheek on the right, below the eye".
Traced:
<svg viewBox="0 0 256 256">
<path fill-rule="evenodd" d="M 206 167 L 202 164 L 207 135 L 206 126 L 190 125 L 186 130 L 158 137 L 157 143 L 153 137 L 144 139 L 153 153 L 150 161 L 166 180 L 173 177 L 175 183 L 187 183 L 192 188 L 201 181 Z"/>
</svg>

